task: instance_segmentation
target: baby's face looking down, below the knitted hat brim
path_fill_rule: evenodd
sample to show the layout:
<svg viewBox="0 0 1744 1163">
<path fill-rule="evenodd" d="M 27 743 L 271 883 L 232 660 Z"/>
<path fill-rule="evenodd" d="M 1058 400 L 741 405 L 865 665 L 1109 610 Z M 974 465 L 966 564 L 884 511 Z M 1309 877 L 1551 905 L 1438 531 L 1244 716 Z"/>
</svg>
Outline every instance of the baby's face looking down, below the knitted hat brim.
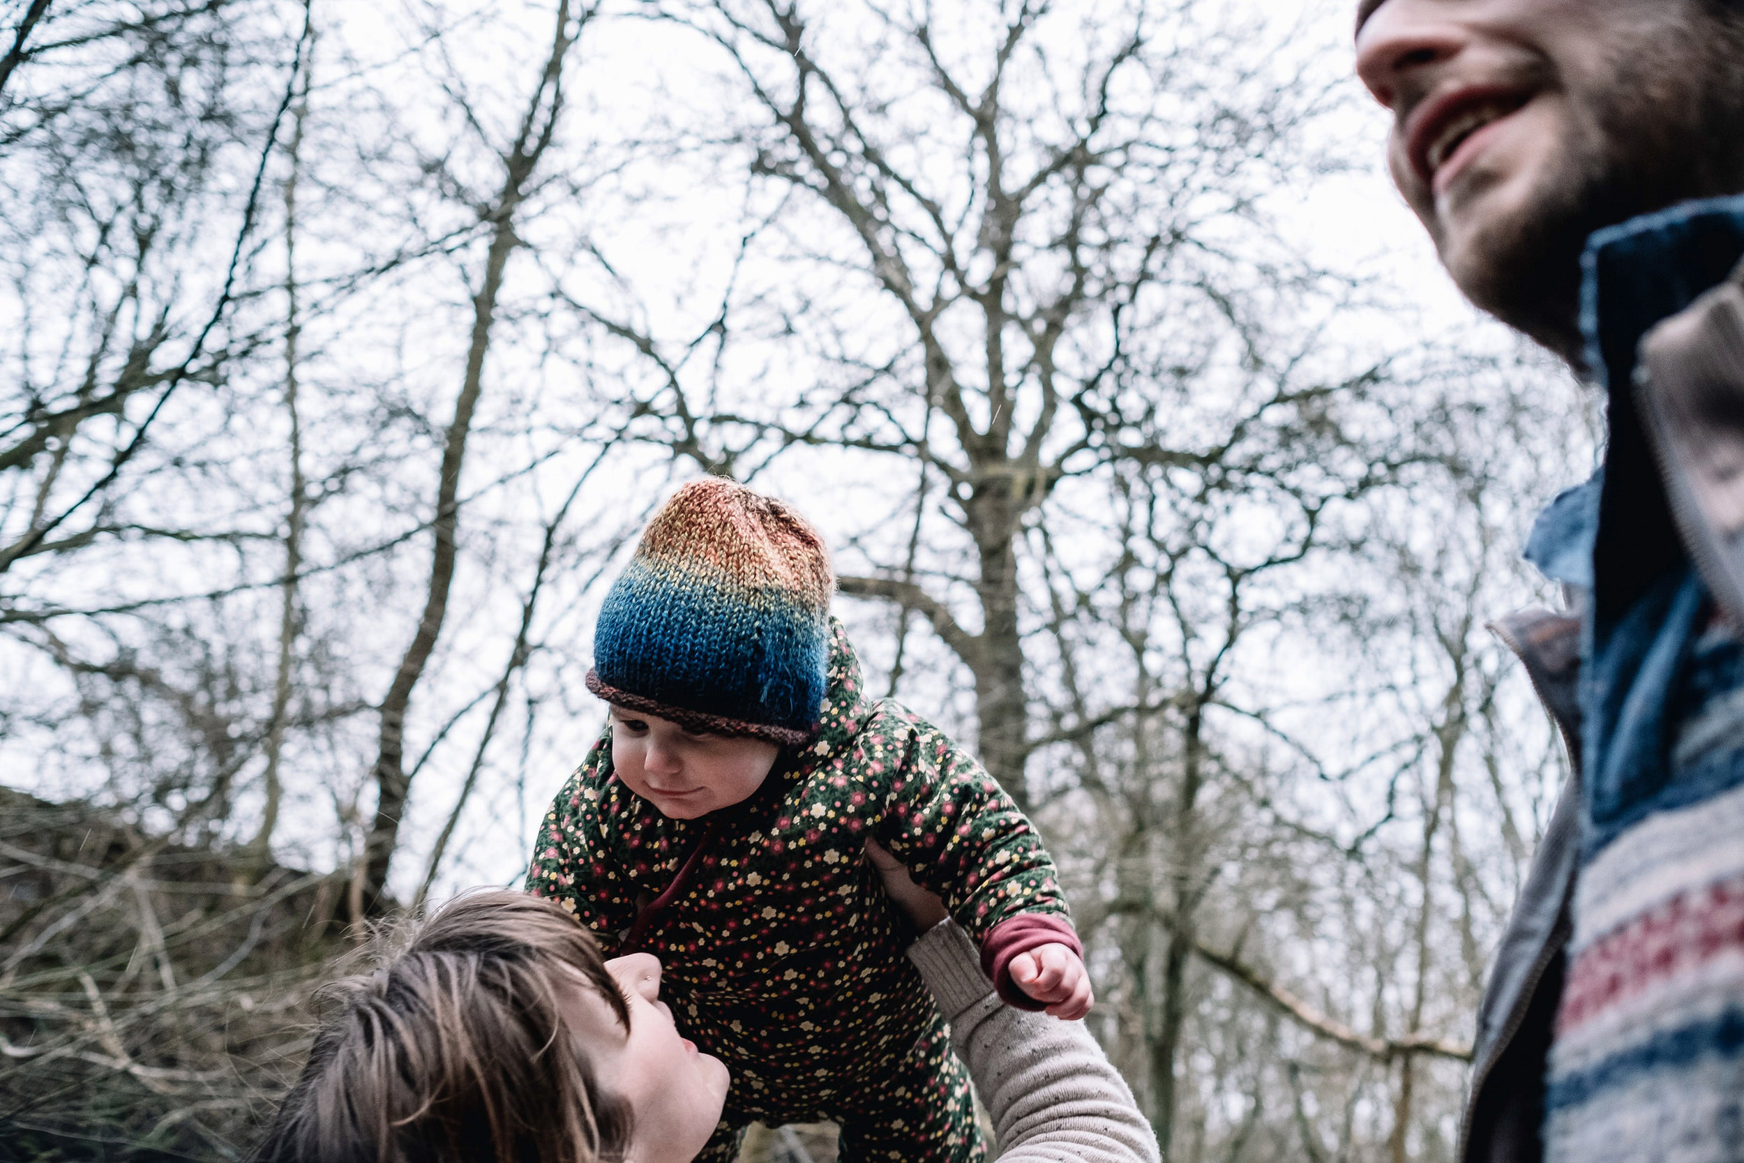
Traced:
<svg viewBox="0 0 1744 1163">
<path fill-rule="evenodd" d="M 612 706 L 612 767 L 663 816 L 696 820 L 748 800 L 781 753 L 766 739 L 712 736 Z"/>
</svg>

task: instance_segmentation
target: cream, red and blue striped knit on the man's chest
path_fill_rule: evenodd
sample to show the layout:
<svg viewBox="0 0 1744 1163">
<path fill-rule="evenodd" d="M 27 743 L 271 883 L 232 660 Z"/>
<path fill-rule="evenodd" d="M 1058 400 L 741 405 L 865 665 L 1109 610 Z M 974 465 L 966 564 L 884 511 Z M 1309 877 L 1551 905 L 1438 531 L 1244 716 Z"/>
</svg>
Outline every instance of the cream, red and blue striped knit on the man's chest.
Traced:
<svg viewBox="0 0 1744 1163">
<path fill-rule="evenodd" d="M 1744 697 L 1730 633 L 1709 631 L 1686 675 L 1671 779 L 1580 872 L 1545 1098 L 1552 1163 L 1744 1158 Z"/>
</svg>

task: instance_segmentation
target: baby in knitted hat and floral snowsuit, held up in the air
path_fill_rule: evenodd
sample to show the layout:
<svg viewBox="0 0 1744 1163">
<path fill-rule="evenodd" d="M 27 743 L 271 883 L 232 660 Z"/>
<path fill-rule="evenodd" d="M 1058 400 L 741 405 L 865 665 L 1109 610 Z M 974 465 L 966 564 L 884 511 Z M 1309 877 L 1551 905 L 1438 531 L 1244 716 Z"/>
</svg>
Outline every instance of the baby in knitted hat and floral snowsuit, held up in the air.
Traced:
<svg viewBox="0 0 1744 1163">
<path fill-rule="evenodd" d="M 1053 861 L 938 729 L 865 696 L 828 553 L 726 479 L 680 488 L 607 593 L 588 689 L 612 711 L 539 832 L 528 889 L 651 952 L 680 1030 L 732 1072 L 698 1160 L 752 1121 L 834 1119 L 841 1160 L 985 1153 L 968 1078 L 869 842 L 938 893 L 1008 1004 L 1081 1018 Z"/>
</svg>

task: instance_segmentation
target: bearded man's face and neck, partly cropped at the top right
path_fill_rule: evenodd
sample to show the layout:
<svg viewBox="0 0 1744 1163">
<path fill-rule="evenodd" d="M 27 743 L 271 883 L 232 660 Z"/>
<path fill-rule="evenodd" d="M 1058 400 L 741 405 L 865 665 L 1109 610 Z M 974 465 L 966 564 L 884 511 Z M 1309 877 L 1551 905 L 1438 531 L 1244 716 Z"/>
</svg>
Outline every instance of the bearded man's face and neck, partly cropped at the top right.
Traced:
<svg viewBox="0 0 1744 1163">
<path fill-rule="evenodd" d="M 1744 190 L 1744 2 L 1362 0 L 1388 166 L 1467 298 L 1568 359 L 1587 235 Z"/>
</svg>

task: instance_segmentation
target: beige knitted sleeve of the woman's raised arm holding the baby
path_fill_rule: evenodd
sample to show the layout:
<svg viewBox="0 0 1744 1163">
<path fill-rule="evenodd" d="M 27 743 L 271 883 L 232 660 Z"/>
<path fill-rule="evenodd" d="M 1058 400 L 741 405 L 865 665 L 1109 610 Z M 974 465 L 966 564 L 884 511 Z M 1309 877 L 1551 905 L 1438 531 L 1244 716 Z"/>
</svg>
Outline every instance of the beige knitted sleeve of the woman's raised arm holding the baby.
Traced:
<svg viewBox="0 0 1744 1163">
<path fill-rule="evenodd" d="M 1156 1135 L 1083 1022 L 1013 1010 L 954 921 L 909 947 L 992 1114 L 1003 1163 L 1156 1163 Z"/>
</svg>

